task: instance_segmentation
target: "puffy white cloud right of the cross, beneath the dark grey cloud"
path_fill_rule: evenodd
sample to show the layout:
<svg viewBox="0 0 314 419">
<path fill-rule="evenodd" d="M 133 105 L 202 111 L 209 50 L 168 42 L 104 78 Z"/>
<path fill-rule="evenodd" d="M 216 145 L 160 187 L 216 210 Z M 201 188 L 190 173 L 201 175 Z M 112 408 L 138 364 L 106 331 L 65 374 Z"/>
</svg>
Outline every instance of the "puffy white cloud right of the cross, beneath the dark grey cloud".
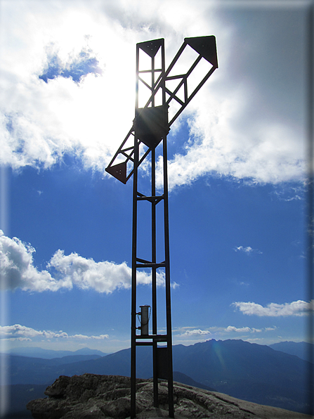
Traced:
<svg viewBox="0 0 314 419">
<path fill-rule="evenodd" d="M 214 77 L 214 76 L 213 76 Z M 200 176 L 231 176 L 253 183 L 281 183 L 304 179 L 304 160 L 298 150 L 298 134 L 285 124 L 273 122 L 256 127 L 254 136 L 248 129 L 233 129 L 235 120 L 244 120 L 239 112 L 240 100 L 218 102 L 207 92 L 208 99 L 199 103 L 190 118 L 190 143 L 185 151 L 169 160 L 169 187 L 190 184 Z M 250 101 L 243 99 L 249 106 Z M 234 120 L 234 121 L 233 121 Z M 287 143 L 283 143 L 283 138 Z M 209 158 L 210 156 L 210 158 Z M 159 160 L 159 170 L 162 160 Z M 158 177 L 161 184 L 162 178 Z"/>
</svg>

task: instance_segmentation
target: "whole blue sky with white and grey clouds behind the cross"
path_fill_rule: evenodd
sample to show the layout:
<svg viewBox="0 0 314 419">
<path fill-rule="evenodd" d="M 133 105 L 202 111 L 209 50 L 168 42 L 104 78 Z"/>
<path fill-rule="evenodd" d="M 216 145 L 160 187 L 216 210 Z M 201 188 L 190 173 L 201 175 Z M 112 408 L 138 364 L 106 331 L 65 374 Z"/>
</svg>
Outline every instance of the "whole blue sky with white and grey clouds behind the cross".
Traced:
<svg viewBox="0 0 314 419">
<path fill-rule="evenodd" d="M 308 2 L 143 4 L 0 3 L 2 348 L 129 347 L 132 181 L 105 167 L 136 43 L 163 37 L 168 65 L 208 34 L 219 68 L 169 134 L 174 344 L 306 340 Z M 160 332 L 163 298 L 159 276 Z"/>
</svg>

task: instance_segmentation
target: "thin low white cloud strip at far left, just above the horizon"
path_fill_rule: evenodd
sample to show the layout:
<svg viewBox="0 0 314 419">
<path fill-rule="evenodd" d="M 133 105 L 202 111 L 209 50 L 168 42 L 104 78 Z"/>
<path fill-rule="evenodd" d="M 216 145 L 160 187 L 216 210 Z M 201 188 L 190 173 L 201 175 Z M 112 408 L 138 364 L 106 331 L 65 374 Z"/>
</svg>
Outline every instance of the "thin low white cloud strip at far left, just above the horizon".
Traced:
<svg viewBox="0 0 314 419">
<path fill-rule="evenodd" d="M 35 330 L 33 328 L 28 328 L 27 326 L 23 326 L 20 324 L 15 324 L 11 326 L 0 326 L 0 339 L 32 341 L 37 337 L 41 337 L 46 340 L 104 340 L 109 338 L 108 335 L 68 335 L 67 333 L 63 332 L 63 330 L 59 330 L 58 332 L 52 332 L 51 330 Z"/>
</svg>

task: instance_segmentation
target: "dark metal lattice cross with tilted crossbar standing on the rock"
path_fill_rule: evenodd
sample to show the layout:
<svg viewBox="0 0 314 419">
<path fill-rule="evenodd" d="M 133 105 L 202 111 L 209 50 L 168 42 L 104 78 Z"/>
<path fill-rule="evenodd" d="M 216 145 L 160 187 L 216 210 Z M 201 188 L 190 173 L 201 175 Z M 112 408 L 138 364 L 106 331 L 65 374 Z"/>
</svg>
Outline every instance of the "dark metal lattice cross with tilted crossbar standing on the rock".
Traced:
<svg viewBox="0 0 314 419">
<path fill-rule="evenodd" d="M 188 69 L 187 69 L 188 67 Z M 133 231 L 131 279 L 131 418 L 136 417 L 136 347 L 152 347 L 154 406 L 158 407 L 158 379 L 168 380 L 169 417 L 174 418 L 172 370 L 171 297 L 169 262 L 169 209 L 166 136 L 171 124 L 190 103 L 197 91 L 218 68 L 214 36 L 185 38 L 168 69 L 165 70 L 164 39 L 136 44 L 136 105 L 133 125 L 106 171 L 126 183 L 133 174 Z M 185 70 L 187 69 L 187 70 Z M 159 146 L 162 143 L 162 146 Z M 159 153 L 159 155 L 158 155 Z M 159 157 L 159 158 L 158 158 Z M 157 160 L 158 158 L 158 160 Z M 150 167 L 150 195 L 138 191 L 142 162 Z M 163 188 L 156 188 L 156 162 L 162 162 Z M 161 183 L 159 181 L 159 183 Z M 149 196 L 148 196 L 149 195 Z M 138 205 L 150 202 L 151 245 L 149 254 L 138 257 Z M 163 240 L 157 240 L 157 205 L 163 202 Z M 159 219 L 159 218 L 158 218 Z M 139 220 L 140 221 L 140 220 Z M 140 226 L 142 227 L 142 226 Z M 144 226 L 147 228 L 147 226 Z M 162 259 L 157 261 L 157 245 Z M 143 252 L 143 249 L 142 249 Z M 140 269 L 149 269 L 152 278 L 152 328 L 148 327 L 148 308 L 136 307 L 136 278 Z M 161 273 L 160 273 L 161 272 Z M 157 278 L 164 278 L 166 292 L 166 333 L 157 328 Z M 140 326 L 136 327 L 136 316 Z M 140 330 L 140 334 L 137 333 Z"/>
</svg>

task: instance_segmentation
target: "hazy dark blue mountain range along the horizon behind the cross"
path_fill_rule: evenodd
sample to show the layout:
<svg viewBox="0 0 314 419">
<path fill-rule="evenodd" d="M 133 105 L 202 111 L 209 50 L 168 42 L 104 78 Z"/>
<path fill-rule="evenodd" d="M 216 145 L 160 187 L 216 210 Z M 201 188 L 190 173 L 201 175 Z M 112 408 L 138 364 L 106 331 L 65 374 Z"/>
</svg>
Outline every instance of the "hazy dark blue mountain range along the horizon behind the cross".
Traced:
<svg viewBox="0 0 314 419">
<path fill-rule="evenodd" d="M 174 380 L 185 380 L 185 384 L 214 389 L 237 399 L 306 413 L 313 396 L 308 381 L 313 364 L 283 352 L 284 347 L 290 350 L 293 345 L 282 343 L 276 347 L 280 350 L 242 340 L 208 340 L 188 347 L 174 345 Z M 130 349 L 106 356 L 75 352 L 53 359 L 11 355 L 8 373 L 15 393 L 23 389 L 30 399 L 35 399 L 44 397 L 35 395 L 35 389 L 41 391 L 36 386 L 51 385 L 60 375 L 129 376 L 130 363 Z M 137 349 L 137 377 L 152 377 L 150 347 Z"/>
</svg>

